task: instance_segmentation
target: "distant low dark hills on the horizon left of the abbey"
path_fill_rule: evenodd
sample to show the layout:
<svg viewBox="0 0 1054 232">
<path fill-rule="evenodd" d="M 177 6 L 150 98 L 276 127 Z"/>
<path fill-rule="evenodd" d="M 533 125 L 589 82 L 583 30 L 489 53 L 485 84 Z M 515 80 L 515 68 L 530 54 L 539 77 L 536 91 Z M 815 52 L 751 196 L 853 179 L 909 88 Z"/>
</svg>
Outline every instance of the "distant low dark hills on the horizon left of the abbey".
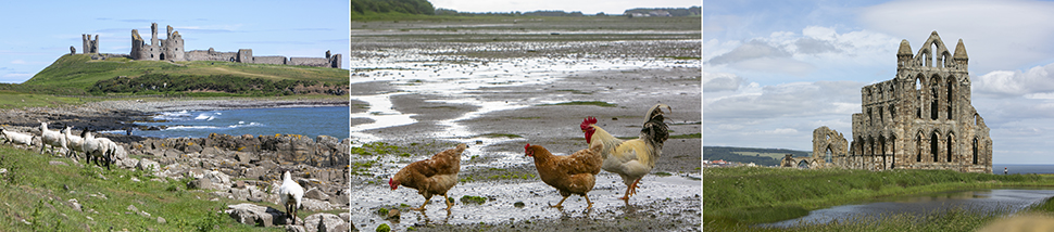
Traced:
<svg viewBox="0 0 1054 232">
<path fill-rule="evenodd" d="M 785 149 L 703 146 L 703 158 L 707 160 L 724 159 L 726 162 L 754 163 L 755 165 L 764 166 L 779 165 L 779 160 L 787 154 L 794 155 L 794 157 L 804 157 L 812 155 L 812 152 Z"/>
</svg>

